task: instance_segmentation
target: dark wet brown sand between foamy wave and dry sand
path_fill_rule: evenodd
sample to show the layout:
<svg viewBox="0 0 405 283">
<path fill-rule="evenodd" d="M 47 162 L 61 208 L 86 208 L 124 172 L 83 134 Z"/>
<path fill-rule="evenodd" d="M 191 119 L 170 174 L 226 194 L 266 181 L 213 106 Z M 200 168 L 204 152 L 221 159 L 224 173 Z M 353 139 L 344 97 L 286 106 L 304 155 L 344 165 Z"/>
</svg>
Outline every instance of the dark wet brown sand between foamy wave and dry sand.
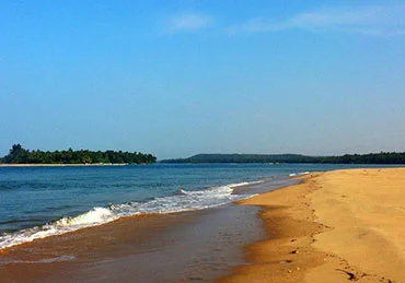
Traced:
<svg viewBox="0 0 405 283">
<path fill-rule="evenodd" d="M 291 181 L 290 181 L 291 182 Z M 269 180 L 240 192 L 286 184 Z M 258 207 L 126 217 L 0 251 L 0 282 L 212 282 L 264 238 Z"/>
</svg>

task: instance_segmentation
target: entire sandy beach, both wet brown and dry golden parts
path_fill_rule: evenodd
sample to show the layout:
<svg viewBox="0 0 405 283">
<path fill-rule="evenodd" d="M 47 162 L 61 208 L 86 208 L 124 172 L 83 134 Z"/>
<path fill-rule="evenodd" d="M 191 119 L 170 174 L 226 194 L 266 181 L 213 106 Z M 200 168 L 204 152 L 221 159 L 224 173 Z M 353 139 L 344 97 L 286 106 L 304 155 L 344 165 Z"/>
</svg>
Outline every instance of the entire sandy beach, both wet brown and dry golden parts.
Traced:
<svg viewBox="0 0 405 283">
<path fill-rule="evenodd" d="M 128 216 L 1 250 L 0 282 L 403 282 L 403 188 L 404 168 L 251 184 L 238 190 L 259 194 L 236 205 Z"/>
</svg>

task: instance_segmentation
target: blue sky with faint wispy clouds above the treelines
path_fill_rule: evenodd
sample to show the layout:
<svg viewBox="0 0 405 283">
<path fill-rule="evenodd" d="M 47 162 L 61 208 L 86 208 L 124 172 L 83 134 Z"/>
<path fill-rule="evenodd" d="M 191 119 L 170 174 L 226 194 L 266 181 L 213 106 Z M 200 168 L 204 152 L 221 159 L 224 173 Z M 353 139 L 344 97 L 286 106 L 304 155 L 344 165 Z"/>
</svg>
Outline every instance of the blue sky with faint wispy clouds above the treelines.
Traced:
<svg viewBox="0 0 405 283">
<path fill-rule="evenodd" d="M 405 1 L 0 1 L 0 155 L 405 151 Z"/>
</svg>

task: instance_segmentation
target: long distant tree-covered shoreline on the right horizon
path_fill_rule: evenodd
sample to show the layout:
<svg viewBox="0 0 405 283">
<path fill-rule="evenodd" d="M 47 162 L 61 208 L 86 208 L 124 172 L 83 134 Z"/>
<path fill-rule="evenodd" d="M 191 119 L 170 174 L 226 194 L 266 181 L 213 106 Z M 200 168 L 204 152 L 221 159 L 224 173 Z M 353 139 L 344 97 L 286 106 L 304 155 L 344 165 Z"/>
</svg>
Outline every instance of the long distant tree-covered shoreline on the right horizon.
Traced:
<svg viewBox="0 0 405 283">
<path fill-rule="evenodd" d="M 332 164 L 405 164 L 405 152 L 305 156 L 299 154 L 197 154 L 188 158 L 161 163 L 332 163 Z"/>
</svg>

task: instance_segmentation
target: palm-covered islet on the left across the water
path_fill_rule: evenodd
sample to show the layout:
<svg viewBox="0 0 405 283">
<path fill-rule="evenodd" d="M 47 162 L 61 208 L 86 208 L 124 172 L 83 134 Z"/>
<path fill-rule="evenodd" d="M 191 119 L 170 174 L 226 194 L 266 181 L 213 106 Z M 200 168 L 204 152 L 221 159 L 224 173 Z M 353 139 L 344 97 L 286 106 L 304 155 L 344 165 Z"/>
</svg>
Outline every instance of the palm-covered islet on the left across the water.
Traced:
<svg viewBox="0 0 405 283">
<path fill-rule="evenodd" d="M 150 164 L 155 163 L 157 157 L 140 152 L 123 151 L 30 151 L 21 144 L 14 144 L 10 153 L 0 158 L 3 164 Z"/>
</svg>

